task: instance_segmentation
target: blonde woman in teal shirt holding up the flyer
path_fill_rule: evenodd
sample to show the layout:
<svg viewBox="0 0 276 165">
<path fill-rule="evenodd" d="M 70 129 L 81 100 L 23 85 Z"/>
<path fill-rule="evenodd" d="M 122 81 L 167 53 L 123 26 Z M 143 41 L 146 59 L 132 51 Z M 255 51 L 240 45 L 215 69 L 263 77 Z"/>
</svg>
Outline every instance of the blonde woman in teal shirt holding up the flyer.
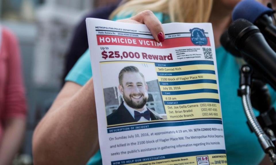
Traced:
<svg viewBox="0 0 276 165">
<path fill-rule="evenodd" d="M 110 18 L 127 23 L 143 23 L 158 42 L 164 41 L 161 22 L 211 22 L 228 164 L 259 164 L 264 152 L 257 137 L 246 125 L 241 99 L 236 93 L 239 64 L 219 42 L 239 1 L 131 0 L 124 1 Z M 89 51 L 78 60 L 65 80 L 63 89 L 35 129 L 34 163 L 85 164 L 94 155 L 92 158 L 97 161 L 90 161 L 89 164 L 101 164 Z M 275 102 L 276 93 L 271 88 L 270 92 Z"/>
</svg>

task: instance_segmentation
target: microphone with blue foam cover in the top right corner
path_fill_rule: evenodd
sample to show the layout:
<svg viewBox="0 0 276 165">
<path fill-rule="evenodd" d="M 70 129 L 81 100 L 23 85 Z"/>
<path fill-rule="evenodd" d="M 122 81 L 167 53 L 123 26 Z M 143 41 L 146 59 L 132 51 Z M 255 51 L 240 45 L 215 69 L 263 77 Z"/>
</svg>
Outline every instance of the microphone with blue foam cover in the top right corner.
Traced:
<svg viewBox="0 0 276 165">
<path fill-rule="evenodd" d="M 240 1 L 234 8 L 232 19 L 243 18 L 258 26 L 267 42 L 276 51 L 276 27 L 273 25 L 273 9 L 262 5 L 255 0 Z"/>
</svg>

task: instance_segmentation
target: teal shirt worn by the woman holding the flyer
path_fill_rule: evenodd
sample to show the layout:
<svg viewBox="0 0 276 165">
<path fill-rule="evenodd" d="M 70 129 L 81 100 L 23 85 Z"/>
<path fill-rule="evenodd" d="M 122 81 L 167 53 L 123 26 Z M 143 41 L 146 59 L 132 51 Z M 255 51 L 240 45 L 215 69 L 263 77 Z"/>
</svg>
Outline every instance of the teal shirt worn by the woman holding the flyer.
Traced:
<svg viewBox="0 0 276 165">
<path fill-rule="evenodd" d="M 157 13 L 156 16 L 161 22 L 164 21 L 162 14 Z M 122 18 L 125 17 L 116 17 L 115 19 Z M 247 119 L 241 98 L 237 96 L 239 65 L 236 59 L 226 52 L 223 47 L 216 48 L 216 61 L 228 164 L 259 164 L 264 157 L 264 152 L 258 143 L 257 137 L 250 132 L 246 124 Z M 91 76 L 90 55 L 87 50 L 74 65 L 65 80 L 84 85 Z M 271 88 L 270 93 L 273 102 L 275 102 L 276 93 Z M 257 114 L 257 112 L 255 113 Z M 87 165 L 101 163 L 101 154 L 98 151 Z"/>
</svg>

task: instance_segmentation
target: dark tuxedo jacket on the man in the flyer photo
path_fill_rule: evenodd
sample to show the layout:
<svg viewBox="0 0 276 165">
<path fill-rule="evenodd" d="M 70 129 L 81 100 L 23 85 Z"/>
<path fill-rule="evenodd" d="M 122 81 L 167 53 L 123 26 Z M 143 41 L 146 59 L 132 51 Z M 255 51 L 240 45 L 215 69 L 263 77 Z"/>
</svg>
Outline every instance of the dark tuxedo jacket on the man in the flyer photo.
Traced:
<svg viewBox="0 0 276 165">
<path fill-rule="evenodd" d="M 127 110 L 127 108 L 124 106 L 124 102 L 121 103 L 120 107 L 118 107 L 118 109 L 116 111 L 114 111 L 113 113 L 108 115 L 106 118 L 107 118 L 107 125 L 136 122 L 135 119 L 132 117 L 132 115 Z M 151 118 L 151 120 L 162 119 L 162 118 L 154 115 L 154 113 L 152 113 L 151 111 L 150 111 L 150 118 Z"/>
</svg>

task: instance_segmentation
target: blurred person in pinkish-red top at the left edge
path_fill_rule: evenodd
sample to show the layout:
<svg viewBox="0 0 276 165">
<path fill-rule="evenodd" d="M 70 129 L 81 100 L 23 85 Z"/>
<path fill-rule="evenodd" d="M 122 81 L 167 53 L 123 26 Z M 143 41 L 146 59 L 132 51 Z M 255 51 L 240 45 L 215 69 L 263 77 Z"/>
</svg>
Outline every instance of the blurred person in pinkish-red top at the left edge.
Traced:
<svg viewBox="0 0 276 165">
<path fill-rule="evenodd" d="M 26 99 L 16 37 L 0 26 L 0 165 L 10 165 L 24 137 Z"/>
</svg>

